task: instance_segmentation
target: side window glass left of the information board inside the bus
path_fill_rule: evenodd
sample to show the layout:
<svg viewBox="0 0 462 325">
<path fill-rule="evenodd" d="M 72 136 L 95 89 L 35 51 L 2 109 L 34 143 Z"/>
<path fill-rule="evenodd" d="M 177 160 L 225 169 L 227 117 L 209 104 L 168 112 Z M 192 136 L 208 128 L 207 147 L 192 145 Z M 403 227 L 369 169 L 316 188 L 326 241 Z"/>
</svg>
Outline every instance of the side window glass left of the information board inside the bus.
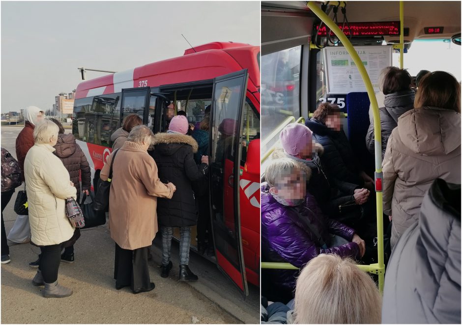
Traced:
<svg viewBox="0 0 462 325">
<path fill-rule="evenodd" d="M 300 62 L 302 47 L 296 46 L 261 57 L 261 125 L 271 134 L 288 117 L 300 117 Z M 278 137 L 263 139 L 262 152 Z"/>
</svg>

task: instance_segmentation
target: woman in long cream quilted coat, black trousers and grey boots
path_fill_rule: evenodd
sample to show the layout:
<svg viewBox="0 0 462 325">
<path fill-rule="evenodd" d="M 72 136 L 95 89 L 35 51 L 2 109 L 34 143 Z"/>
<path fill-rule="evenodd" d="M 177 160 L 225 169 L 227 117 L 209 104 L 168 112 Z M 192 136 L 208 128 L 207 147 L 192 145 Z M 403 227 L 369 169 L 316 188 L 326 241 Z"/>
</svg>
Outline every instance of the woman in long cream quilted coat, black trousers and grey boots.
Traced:
<svg viewBox="0 0 462 325">
<path fill-rule="evenodd" d="M 65 214 L 67 198 L 76 199 L 76 188 L 61 160 L 53 154 L 58 125 L 50 120 L 37 125 L 35 145 L 24 162 L 29 203 L 31 241 L 40 247 L 38 271 L 32 284 L 45 285 L 44 297 L 66 297 L 72 290 L 58 285 L 61 244 L 74 234 Z"/>
</svg>

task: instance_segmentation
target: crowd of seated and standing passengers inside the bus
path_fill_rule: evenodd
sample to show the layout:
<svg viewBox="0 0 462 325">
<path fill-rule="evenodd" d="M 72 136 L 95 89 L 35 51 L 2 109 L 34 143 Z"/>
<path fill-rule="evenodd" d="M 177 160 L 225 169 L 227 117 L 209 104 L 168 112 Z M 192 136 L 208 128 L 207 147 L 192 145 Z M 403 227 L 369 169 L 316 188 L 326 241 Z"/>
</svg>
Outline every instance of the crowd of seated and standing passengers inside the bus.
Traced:
<svg viewBox="0 0 462 325">
<path fill-rule="evenodd" d="M 322 103 L 305 125 L 282 130 L 264 171 L 262 261 L 298 270 L 262 269 L 262 323 L 460 324 L 461 85 L 423 70 L 416 86 L 406 70 L 381 72 L 383 227 L 392 250 L 383 301 L 357 267 L 377 262 L 374 171 L 356 159 L 341 110 Z M 355 145 L 374 155 L 370 120 Z"/>
</svg>

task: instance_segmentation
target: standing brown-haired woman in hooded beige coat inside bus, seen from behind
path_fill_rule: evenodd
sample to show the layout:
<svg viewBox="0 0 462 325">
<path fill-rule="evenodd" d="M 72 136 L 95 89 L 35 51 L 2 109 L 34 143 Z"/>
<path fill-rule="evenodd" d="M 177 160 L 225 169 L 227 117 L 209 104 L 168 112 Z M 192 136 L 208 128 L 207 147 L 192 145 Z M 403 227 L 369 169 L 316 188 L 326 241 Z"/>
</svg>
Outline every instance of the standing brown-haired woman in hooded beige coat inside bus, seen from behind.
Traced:
<svg viewBox="0 0 462 325">
<path fill-rule="evenodd" d="M 392 248 L 417 221 L 433 180 L 461 183 L 461 85 L 435 71 L 423 77 L 413 110 L 398 119 L 383 159 L 383 212 L 393 221 Z"/>
</svg>

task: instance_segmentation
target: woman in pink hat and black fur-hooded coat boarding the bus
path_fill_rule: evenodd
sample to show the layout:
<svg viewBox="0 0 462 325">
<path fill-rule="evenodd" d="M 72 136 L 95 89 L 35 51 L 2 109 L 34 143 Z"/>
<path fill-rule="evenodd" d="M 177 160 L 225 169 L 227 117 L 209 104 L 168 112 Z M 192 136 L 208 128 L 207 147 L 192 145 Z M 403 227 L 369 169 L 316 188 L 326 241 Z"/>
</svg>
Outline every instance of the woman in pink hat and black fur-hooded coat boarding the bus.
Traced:
<svg viewBox="0 0 462 325">
<path fill-rule="evenodd" d="M 172 199 L 157 200 L 157 219 L 162 233 L 162 277 L 168 277 L 172 268 L 170 248 L 173 227 L 180 230 L 180 272 L 179 281 L 196 281 L 198 277 L 191 272 L 189 264 L 189 245 L 191 226 L 197 224 L 197 209 L 191 181 L 201 179 L 208 172 L 208 156 L 202 156 L 202 163 L 196 165 L 194 153 L 198 144 L 188 132 L 188 120 L 175 116 L 170 121 L 167 133 L 154 136 L 154 158 L 158 175 L 162 182 L 172 182 L 176 191 Z"/>
</svg>

